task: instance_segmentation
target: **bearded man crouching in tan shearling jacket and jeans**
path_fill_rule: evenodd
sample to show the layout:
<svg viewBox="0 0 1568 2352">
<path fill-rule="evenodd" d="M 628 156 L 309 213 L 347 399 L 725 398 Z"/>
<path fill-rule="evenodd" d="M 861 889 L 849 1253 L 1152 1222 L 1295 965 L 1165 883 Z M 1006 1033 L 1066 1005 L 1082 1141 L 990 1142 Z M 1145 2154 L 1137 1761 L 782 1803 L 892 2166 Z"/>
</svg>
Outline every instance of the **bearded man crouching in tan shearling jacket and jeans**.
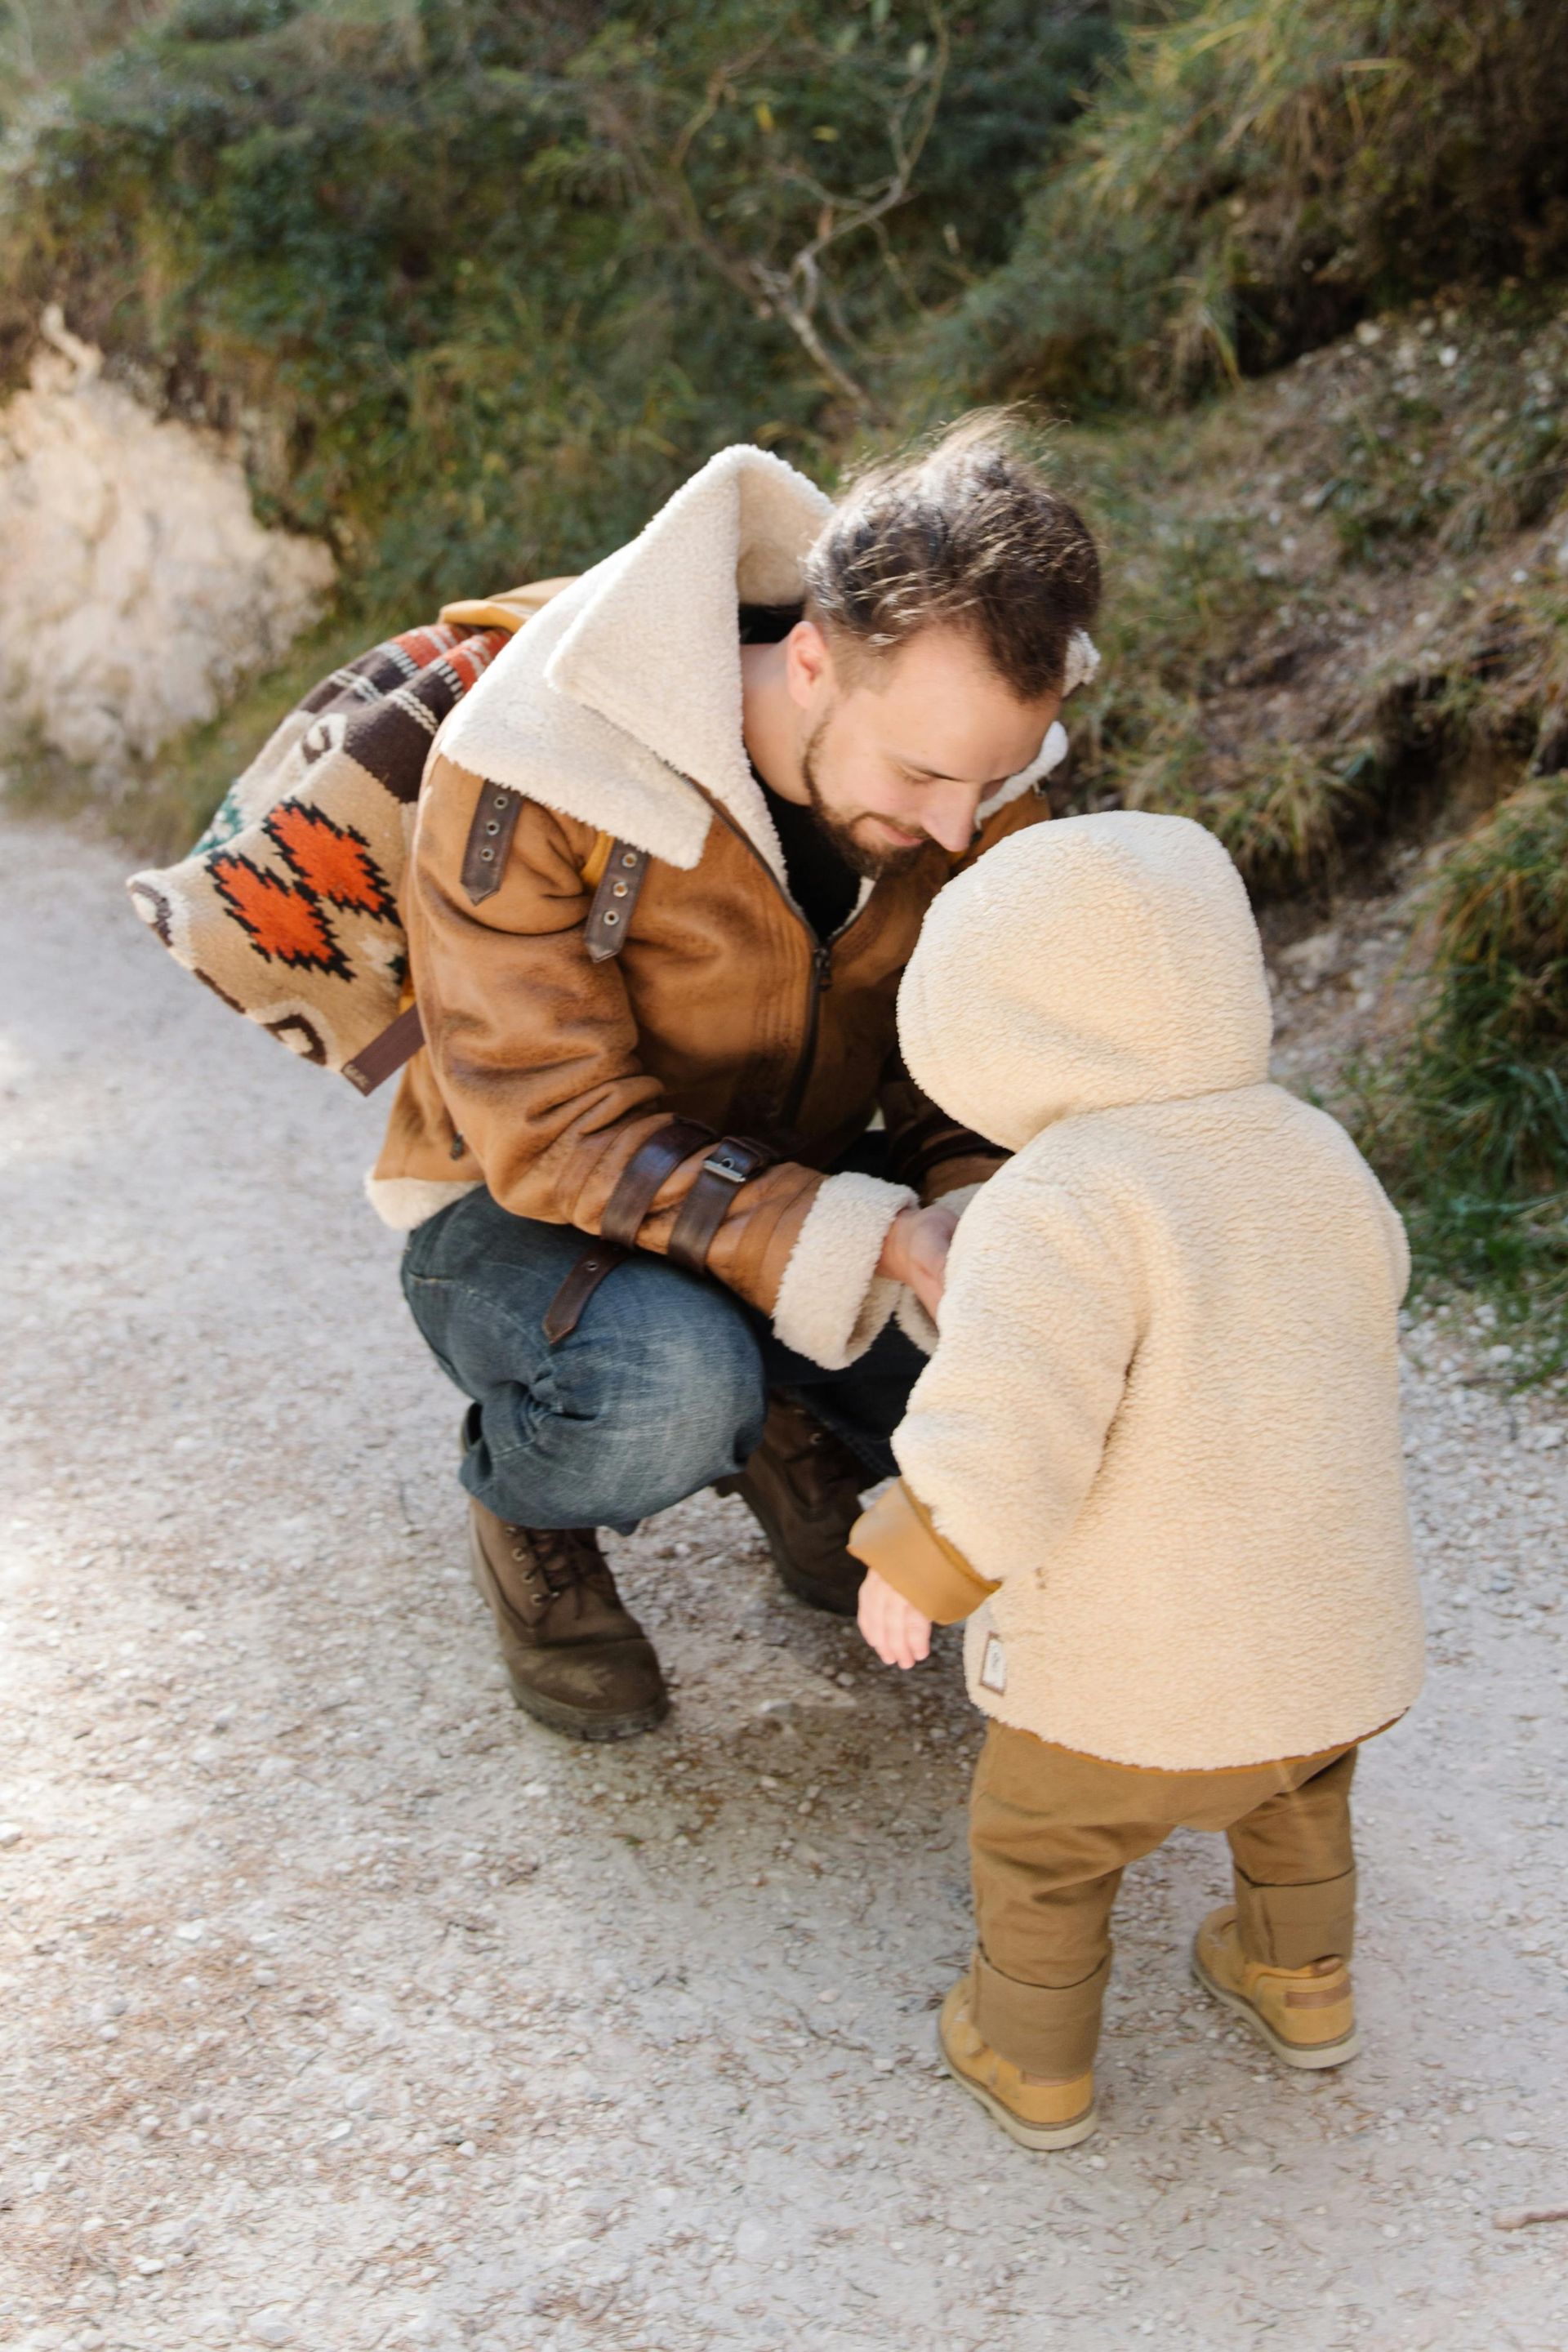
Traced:
<svg viewBox="0 0 1568 2352">
<path fill-rule="evenodd" d="M 517 1703 L 663 1715 L 597 1529 L 741 1494 L 853 1613 L 858 1494 L 999 1148 L 898 1063 L 926 906 L 1034 823 L 1098 560 L 973 419 L 830 506 L 724 449 L 442 727 L 404 917 L 428 1049 L 371 1197 L 456 1385 L 470 1557 Z M 1020 950 L 1027 948 L 1020 941 Z M 882 1131 L 870 1122 L 882 1110 Z"/>
</svg>

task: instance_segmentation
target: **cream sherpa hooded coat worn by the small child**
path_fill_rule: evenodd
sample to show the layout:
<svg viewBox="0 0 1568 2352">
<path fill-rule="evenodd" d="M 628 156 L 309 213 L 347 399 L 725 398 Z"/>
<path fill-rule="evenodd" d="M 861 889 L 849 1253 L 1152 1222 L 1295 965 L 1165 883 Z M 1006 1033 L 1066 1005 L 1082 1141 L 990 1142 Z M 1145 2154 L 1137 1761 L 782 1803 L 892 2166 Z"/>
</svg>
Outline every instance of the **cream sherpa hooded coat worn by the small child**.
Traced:
<svg viewBox="0 0 1568 2352">
<path fill-rule="evenodd" d="M 1133 814 L 1001 842 L 936 898 L 898 1025 L 1016 1157 L 959 1223 L 903 1482 L 853 1550 L 969 1613 L 980 1708 L 1093 1757 L 1258 1764 L 1401 1715 L 1406 1240 L 1349 1136 L 1267 1082 L 1225 849 Z"/>
</svg>

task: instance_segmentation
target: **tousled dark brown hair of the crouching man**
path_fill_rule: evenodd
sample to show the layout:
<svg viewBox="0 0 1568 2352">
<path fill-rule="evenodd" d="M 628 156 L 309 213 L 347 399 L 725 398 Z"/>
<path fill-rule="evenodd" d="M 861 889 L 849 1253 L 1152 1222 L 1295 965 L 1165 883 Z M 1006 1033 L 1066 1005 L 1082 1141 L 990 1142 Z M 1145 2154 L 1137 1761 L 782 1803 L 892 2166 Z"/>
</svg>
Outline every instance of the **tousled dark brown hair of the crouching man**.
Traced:
<svg viewBox="0 0 1568 2352">
<path fill-rule="evenodd" d="M 806 616 L 851 661 L 940 621 L 973 630 L 1020 701 L 1060 691 L 1098 604 L 1088 527 L 1006 409 L 856 475 L 806 557 Z"/>
</svg>

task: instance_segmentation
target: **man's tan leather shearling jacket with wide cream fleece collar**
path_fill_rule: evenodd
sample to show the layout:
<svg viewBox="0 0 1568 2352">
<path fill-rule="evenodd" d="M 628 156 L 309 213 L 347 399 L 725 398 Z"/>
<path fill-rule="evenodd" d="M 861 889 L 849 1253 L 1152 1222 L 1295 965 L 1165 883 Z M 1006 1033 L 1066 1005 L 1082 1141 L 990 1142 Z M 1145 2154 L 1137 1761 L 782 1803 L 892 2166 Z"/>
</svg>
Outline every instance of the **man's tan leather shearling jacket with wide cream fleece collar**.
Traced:
<svg viewBox="0 0 1568 2352">
<path fill-rule="evenodd" d="M 825 510 L 778 459 L 722 452 L 440 731 L 404 884 L 428 1044 L 369 1192 L 409 1228 L 484 1183 L 517 1216 L 623 1237 L 630 1202 L 635 1247 L 668 1251 L 710 1143 L 755 1138 L 778 1157 L 731 1188 L 705 1268 L 835 1367 L 896 1303 L 875 1265 L 898 1209 L 1004 1157 L 905 1077 L 896 993 L 943 882 L 1048 811 L 1034 771 L 1011 779 L 966 861 L 931 849 L 816 941 L 741 741 L 738 604 L 799 597 Z M 592 910 L 628 851 L 607 953 Z M 893 1181 L 823 1174 L 877 1110 Z"/>
</svg>

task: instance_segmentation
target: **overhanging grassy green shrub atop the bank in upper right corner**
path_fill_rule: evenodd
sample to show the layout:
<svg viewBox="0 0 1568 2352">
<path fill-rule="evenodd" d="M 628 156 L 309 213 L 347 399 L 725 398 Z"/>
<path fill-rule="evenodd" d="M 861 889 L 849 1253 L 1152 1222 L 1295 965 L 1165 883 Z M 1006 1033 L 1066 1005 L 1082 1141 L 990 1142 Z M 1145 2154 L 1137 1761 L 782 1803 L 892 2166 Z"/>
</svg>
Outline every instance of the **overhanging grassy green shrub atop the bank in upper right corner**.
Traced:
<svg viewBox="0 0 1568 2352">
<path fill-rule="evenodd" d="M 1559 0 L 1171 7 L 912 376 L 1185 395 L 1450 280 L 1561 268 L 1566 78 Z"/>
</svg>

